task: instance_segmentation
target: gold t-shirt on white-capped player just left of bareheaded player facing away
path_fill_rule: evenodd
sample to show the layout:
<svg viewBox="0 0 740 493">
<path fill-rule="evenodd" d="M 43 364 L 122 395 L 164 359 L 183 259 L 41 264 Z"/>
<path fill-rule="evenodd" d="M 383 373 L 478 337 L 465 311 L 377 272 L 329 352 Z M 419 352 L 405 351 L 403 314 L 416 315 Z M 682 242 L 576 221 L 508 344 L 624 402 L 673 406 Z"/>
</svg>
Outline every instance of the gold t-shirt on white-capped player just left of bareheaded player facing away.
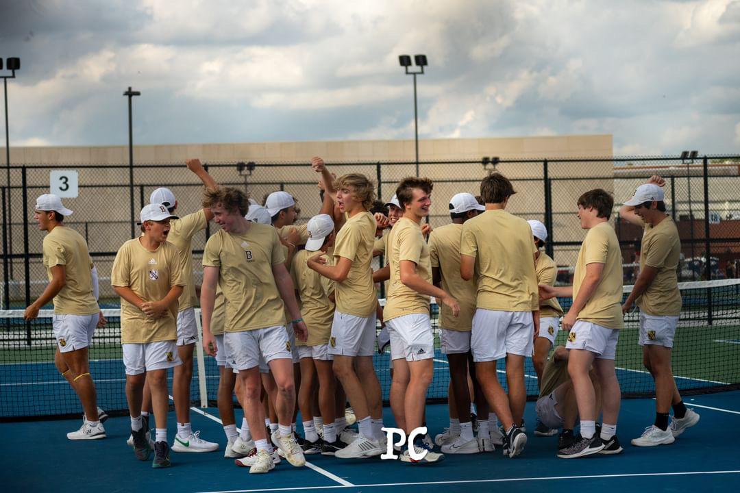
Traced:
<svg viewBox="0 0 740 493">
<path fill-rule="evenodd" d="M 440 306 L 440 327 L 447 330 L 471 330 L 475 315 L 476 281 L 460 277 L 460 239 L 462 224 L 446 224 L 429 235 L 429 259 L 432 268 L 442 274 L 442 289 L 457 299 L 460 315 L 455 318 L 447 305 Z"/>
</svg>

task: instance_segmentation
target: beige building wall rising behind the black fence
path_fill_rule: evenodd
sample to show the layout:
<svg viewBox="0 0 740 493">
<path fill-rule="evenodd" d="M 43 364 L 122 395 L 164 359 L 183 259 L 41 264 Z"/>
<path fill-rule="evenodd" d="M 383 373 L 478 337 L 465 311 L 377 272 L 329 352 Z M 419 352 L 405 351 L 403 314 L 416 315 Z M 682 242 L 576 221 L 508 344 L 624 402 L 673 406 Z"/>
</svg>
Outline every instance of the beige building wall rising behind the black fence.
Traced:
<svg viewBox="0 0 740 493">
<path fill-rule="evenodd" d="M 472 139 L 425 139 L 419 142 L 420 175 L 435 181 L 432 206 L 432 225 L 448 222 L 448 200 L 460 191 L 477 194 L 482 177 L 488 173 L 480 160 L 483 156 L 499 157 L 500 160 L 534 160 L 532 163 L 501 163 L 497 171 L 514 180 L 517 195 L 513 197 L 509 210 L 526 219 L 544 217 L 544 188 L 542 185 L 542 159 L 568 159 L 588 157 L 611 157 L 611 135 L 561 135 L 547 137 L 490 137 Z M 299 222 L 307 221 L 316 214 L 320 203 L 316 186 L 317 174 L 308 166 L 309 159 L 319 155 L 332 166 L 332 171 L 343 174 L 349 171 L 367 174 L 377 181 L 377 165 L 381 165 L 380 188 L 383 200 L 388 200 L 395 190 L 395 183 L 415 173 L 414 140 L 345 140 L 326 142 L 274 142 L 274 143 L 221 143 L 221 144 L 172 144 L 135 146 L 136 165 L 155 165 L 152 168 L 137 168 L 134 171 L 135 210 L 149 199 L 149 194 L 158 186 L 168 186 L 178 197 L 178 214 L 187 214 L 198 209 L 201 200 L 199 180 L 184 166 L 188 157 L 199 157 L 209 164 L 209 172 L 218 183 L 232 186 L 246 184 L 253 198 L 261 201 L 263 195 L 280 189 L 293 194 L 301 208 Z M 5 165 L 4 149 L 0 152 L 0 163 Z M 471 164 L 447 163 L 450 160 L 474 160 Z M 236 163 L 254 161 L 257 168 L 251 176 L 243 176 Z M 11 166 L 33 166 L 27 169 L 27 203 L 33 212 L 33 204 L 39 194 L 49 189 L 49 171 L 52 169 L 75 169 L 78 171 L 80 194 L 76 198 L 64 199 L 64 204 L 73 209 L 68 219 L 71 227 L 87 237 L 90 251 L 115 252 L 130 237 L 129 170 L 127 146 L 60 146 L 60 147 L 13 147 L 10 149 Z M 406 162 L 411 164 L 391 164 Z M 295 166 L 263 166 L 269 163 L 294 163 Z M 343 163 L 338 165 L 337 163 Z M 40 167 L 38 167 L 40 166 Z M 588 176 L 595 180 L 584 180 L 577 186 L 568 186 L 554 191 L 554 211 L 565 213 L 573 209 L 576 197 L 585 189 L 594 186 L 613 191 L 613 163 L 551 163 L 551 177 Z M 0 183 L 6 184 L 6 174 L 0 174 Z M 13 170 L 10 179 L 11 208 L 13 222 L 11 237 L 13 253 L 23 251 L 23 203 L 21 195 L 21 171 Z M 574 214 L 555 216 L 555 236 L 560 241 L 577 241 L 582 232 L 573 221 Z M 575 226 L 575 228 L 574 228 Z M 43 234 L 35 225 L 29 228 L 29 244 L 32 253 L 41 252 Z M 205 245 L 205 234 L 193 242 L 195 250 Z M 568 262 L 569 259 L 562 259 Z M 561 259 L 556 258 L 561 262 Z M 98 270 L 104 278 L 110 275 L 112 256 L 98 257 Z M 195 262 L 198 265 L 199 259 Z M 19 267 L 20 266 L 20 267 Z M 16 279 L 14 296 L 22 293 L 22 264 L 16 260 L 13 279 Z M 34 259 L 31 269 L 33 296 L 38 296 L 45 285 L 44 269 Z M 104 283 L 101 283 L 104 284 Z M 17 291 L 17 293 L 16 293 Z M 107 286 L 101 291 L 107 293 Z"/>
</svg>

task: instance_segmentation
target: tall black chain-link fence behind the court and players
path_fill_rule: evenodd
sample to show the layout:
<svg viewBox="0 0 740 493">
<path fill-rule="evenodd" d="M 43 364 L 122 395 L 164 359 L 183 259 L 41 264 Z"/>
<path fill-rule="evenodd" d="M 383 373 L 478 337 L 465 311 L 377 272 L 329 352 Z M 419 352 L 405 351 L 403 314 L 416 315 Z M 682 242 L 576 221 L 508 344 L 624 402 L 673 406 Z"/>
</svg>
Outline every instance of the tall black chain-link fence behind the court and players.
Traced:
<svg viewBox="0 0 740 493">
<path fill-rule="evenodd" d="M 378 196 L 389 200 L 396 184 L 416 174 L 417 163 L 328 163 L 337 175 L 366 174 L 377 184 Z M 149 194 L 170 188 L 178 200 L 178 214 L 201 205 L 202 184 L 184 163 L 169 165 L 75 166 L 78 196 L 65 198 L 74 211 L 64 223 L 82 234 L 101 277 L 101 302 L 118 304 L 110 287 L 115 253 L 124 241 L 137 234 L 132 227 Z M 246 187 L 250 197 L 263 203 L 275 190 L 285 190 L 297 200 L 298 222 L 306 222 L 320 208 L 318 175 L 308 163 L 207 163 L 217 183 Z M 576 217 L 576 200 L 591 188 L 614 194 L 611 222 L 622 243 L 625 283 L 633 282 L 639 262 L 642 231 L 619 219 L 619 204 L 652 174 L 665 177 L 668 214 L 679 228 L 682 241 L 682 281 L 723 279 L 740 271 L 740 157 L 710 156 L 696 160 L 680 157 L 590 158 L 556 160 L 446 160 L 421 162 L 419 174 L 434 180 L 429 222 L 432 227 L 449 222 L 448 200 L 460 191 L 478 194 L 480 180 L 495 169 L 509 177 L 517 194 L 507 210 L 525 219 L 542 220 L 548 228 L 548 254 L 561 266 L 559 280 L 569 282 L 571 266 L 584 232 Z M 27 306 L 44 290 L 47 274 L 41 264 L 44 232 L 33 220 L 36 197 L 50 190 L 48 166 L 10 166 L 0 187 L 2 207 L 2 278 L 0 302 L 4 308 Z M 1 180 L 1 179 L 0 179 Z M 198 266 L 206 239 L 214 228 L 193 241 L 194 265 Z M 707 255 L 707 252 L 709 254 Z M 707 260 L 707 257 L 709 258 Z M 196 271 L 199 271 L 196 268 Z M 196 272 L 198 280 L 199 272 Z"/>
</svg>

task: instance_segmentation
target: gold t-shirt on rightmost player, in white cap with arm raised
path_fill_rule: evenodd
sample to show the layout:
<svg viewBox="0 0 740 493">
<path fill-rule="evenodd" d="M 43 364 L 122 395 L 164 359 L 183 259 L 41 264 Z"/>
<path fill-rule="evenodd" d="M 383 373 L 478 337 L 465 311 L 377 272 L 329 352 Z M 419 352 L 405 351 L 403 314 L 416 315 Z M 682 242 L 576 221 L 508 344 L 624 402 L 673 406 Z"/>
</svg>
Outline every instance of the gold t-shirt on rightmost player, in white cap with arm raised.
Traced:
<svg viewBox="0 0 740 493">
<path fill-rule="evenodd" d="M 679 316 L 681 293 L 676 269 L 681 255 L 681 240 L 676 223 L 666 217 L 656 226 L 645 225 L 642 234 L 640 271 L 645 265 L 658 269 L 655 279 L 637 299 L 637 306 L 648 315 Z"/>
</svg>

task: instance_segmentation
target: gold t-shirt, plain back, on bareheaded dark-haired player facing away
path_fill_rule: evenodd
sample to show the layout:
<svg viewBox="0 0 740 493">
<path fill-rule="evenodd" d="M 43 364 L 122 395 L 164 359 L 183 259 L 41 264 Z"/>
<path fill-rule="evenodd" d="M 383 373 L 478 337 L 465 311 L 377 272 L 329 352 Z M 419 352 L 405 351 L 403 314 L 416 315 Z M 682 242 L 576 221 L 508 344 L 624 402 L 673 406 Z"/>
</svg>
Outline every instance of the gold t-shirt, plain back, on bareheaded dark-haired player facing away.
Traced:
<svg viewBox="0 0 740 493">
<path fill-rule="evenodd" d="M 477 307 L 539 310 L 535 252 L 528 222 L 504 210 L 487 210 L 465 221 L 460 254 L 475 257 Z"/>
</svg>

